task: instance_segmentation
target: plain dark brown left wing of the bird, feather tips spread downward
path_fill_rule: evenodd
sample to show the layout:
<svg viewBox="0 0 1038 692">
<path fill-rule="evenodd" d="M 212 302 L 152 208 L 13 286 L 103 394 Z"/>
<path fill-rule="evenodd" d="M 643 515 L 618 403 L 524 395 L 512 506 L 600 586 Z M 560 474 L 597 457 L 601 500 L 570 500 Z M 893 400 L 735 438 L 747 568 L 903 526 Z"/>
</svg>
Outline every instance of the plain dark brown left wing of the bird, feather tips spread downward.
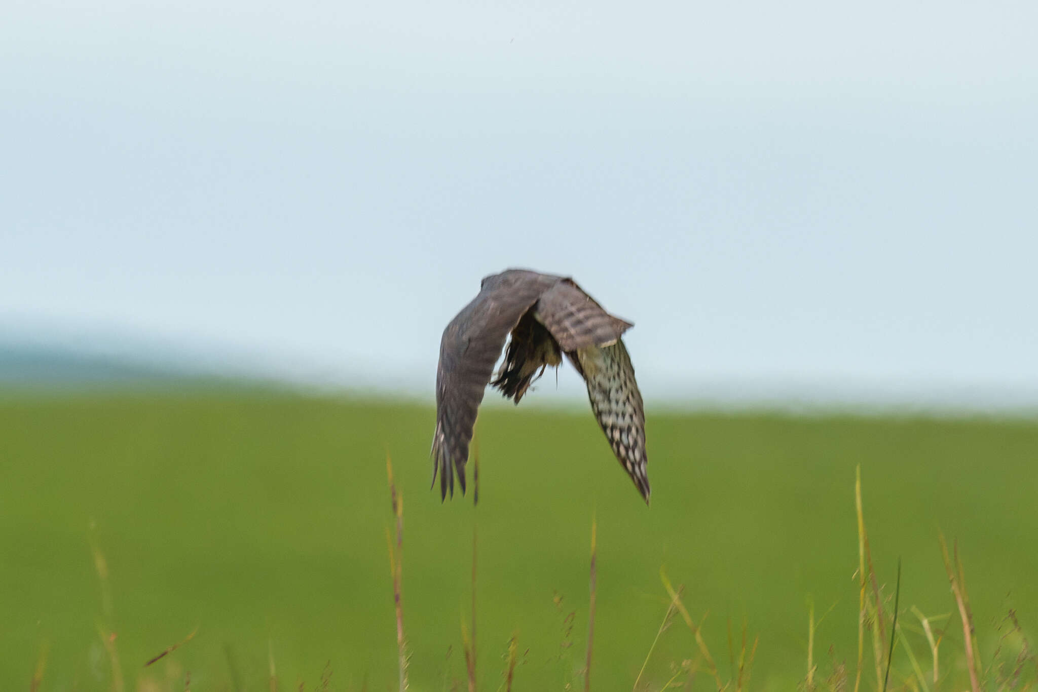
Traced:
<svg viewBox="0 0 1038 692">
<path fill-rule="evenodd" d="M 436 432 L 433 483 L 454 495 L 455 473 L 465 492 L 465 463 L 475 415 L 509 332 L 557 276 L 509 270 L 484 279 L 480 295 L 443 330 L 436 368 Z M 452 469 L 453 466 L 453 469 Z"/>
</svg>

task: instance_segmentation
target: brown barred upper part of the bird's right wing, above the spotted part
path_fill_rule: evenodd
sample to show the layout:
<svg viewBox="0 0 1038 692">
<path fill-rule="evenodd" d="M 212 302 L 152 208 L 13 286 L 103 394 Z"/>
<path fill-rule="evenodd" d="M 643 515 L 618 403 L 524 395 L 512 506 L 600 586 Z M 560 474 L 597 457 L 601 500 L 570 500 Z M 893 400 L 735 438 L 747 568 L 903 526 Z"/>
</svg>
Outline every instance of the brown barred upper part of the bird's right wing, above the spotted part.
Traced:
<svg viewBox="0 0 1038 692">
<path fill-rule="evenodd" d="M 634 326 L 606 312 L 572 279 L 563 279 L 544 292 L 535 316 L 565 352 L 609 345 Z"/>
</svg>

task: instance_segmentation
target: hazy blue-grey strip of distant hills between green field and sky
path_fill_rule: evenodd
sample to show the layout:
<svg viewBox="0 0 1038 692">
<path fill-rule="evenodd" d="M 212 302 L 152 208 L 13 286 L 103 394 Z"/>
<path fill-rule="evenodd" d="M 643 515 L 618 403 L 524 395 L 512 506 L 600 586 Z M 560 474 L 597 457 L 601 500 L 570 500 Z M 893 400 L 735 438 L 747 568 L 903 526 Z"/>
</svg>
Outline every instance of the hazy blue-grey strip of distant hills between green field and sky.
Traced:
<svg viewBox="0 0 1038 692">
<path fill-rule="evenodd" d="M 431 368 L 430 368 L 431 369 Z M 270 357 L 119 331 L 26 329 L 0 321 L 0 395 L 82 390 L 248 389 L 349 392 L 405 400 L 433 399 L 432 371 L 413 367 L 325 366 L 305 356 Z M 1038 390 L 906 382 L 718 380 L 662 382 L 639 373 L 656 411 L 782 411 L 807 415 L 996 415 L 1038 418 Z M 542 381 L 527 407 L 586 406 L 572 368 Z M 487 407 L 511 408 L 488 395 Z"/>
</svg>

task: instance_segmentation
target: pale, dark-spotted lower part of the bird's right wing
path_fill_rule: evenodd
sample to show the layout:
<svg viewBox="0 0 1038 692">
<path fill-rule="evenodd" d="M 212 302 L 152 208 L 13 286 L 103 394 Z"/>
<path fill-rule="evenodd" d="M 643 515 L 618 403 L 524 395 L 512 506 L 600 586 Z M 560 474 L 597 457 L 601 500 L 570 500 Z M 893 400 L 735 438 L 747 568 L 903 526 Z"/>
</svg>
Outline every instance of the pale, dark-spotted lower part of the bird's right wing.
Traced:
<svg viewBox="0 0 1038 692">
<path fill-rule="evenodd" d="M 588 383 L 588 398 L 620 464 L 649 503 L 646 414 L 634 366 L 622 339 L 568 353 Z"/>
</svg>

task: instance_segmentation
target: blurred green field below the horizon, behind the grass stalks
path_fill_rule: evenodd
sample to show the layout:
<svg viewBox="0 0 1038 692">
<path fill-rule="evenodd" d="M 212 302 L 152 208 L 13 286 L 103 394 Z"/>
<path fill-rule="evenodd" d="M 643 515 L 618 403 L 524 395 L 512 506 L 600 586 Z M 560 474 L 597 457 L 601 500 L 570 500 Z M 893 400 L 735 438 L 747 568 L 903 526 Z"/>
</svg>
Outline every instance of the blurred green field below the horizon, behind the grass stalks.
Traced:
<svg viewBox="0 0 1038 692">
<path fill-rule="evenodd" d="M 666 609 L 661 565 L 685 584 L 693 616 L 709 611 L 704 636 L 719 667 L 730 666 L 729 621 L 760 637 L 753 688 L 802 681 L 809 603 L 827 612 L 821 669 L 853 667 L 858 464 L 887 594 L 903 559 L 903 612 L 954 610 L 943 531 L 959 543 L 983 656 L 1009 608 L 1038 631 L 1033 422 L 650 410 L 651 508 L 586 411 L 485 409 L 476 508 L 429 490 L 432 428 L 428 407 L 277 393 L 0 400 L 3 688 L 28 689 L 43 652 L 40 690 L 112 689 L 99 635 L 110 626 L 128 690 L 147 680 L 182 690 L 188 673 L 193 690 L 269 690 L 271 660 L 281 689 L 318 689 L 328 674 L 328 689 L 392 689 L 387 452 L 404 498 L 415 690 L 464 679 L 475 522 L 481 689 L 498 689 L 513 635 L 524 653 L 514 689 L 577 681 L 593 515 L 596 689 L 631 688 Z M 107 562 L 107 614 L 91 539 Z M 961 645 L 953 625 L 949 660 Z M 672 663 L 694 657 L 675 625 L 644 680 L 659 689 Z M 701 675 L 692 689 L 711 687 Z"/>
</svg>

